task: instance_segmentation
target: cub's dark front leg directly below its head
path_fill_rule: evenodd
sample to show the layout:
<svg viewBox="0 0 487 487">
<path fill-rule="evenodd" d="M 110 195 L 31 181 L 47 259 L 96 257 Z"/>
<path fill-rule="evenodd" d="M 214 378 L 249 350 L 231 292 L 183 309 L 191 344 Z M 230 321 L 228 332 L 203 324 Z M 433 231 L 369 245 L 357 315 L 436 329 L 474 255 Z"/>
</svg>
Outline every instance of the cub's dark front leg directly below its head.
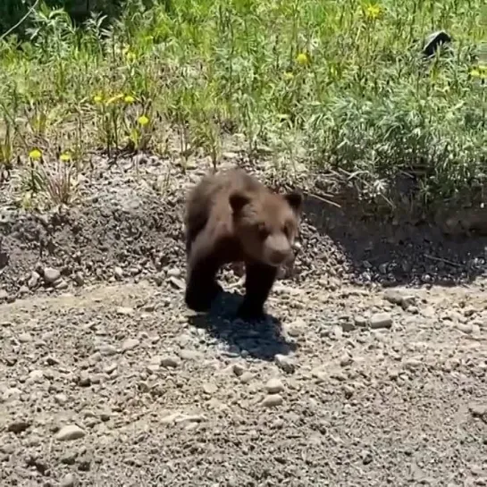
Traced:
<svg viewBox="0 0 487 487">
<path fill-rule="evenodd" d="M 245 297 L 238 315 L 244 320 L 264 318 L 264 303 L 277 276 L 277 267 L 260 263 L 246 264 Z"/>
</svg>

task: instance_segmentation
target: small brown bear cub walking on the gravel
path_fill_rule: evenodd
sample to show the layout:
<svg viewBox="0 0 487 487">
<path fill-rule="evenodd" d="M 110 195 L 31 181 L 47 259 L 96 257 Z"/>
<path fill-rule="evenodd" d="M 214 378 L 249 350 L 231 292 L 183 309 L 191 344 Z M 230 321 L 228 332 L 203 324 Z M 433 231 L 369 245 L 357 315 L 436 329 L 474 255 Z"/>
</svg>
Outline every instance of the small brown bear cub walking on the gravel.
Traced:
<svg viewBox="0 0 487 487">
<path fill-rule="evenodd" d="M 244 262 L 246 294 L 238 315 L 261 319 L 279 266 L 293 256 L 302 204 L 298 192 L 273 193 L 241 169 L 205 176 L 186 206 L 186 305 L 207 311 L 222 291 L 219 269 Z"/>
</svg>

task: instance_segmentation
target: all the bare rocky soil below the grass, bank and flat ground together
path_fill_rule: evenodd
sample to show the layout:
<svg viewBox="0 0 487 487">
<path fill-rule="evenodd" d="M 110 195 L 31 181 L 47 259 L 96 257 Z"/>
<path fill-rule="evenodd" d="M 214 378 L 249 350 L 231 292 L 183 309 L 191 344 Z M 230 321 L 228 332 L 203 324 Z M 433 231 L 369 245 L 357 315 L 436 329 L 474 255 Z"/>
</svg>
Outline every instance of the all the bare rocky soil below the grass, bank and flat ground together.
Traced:
<svg viewBox="0 0 487 487">
<path fill-rule="evenodd" d="M 62 213 L 0 190 L 2 485 L 487 485 L 486 239 L 310 196 L 267 321 L 233 319 L 238 269 L 193 315 L 206 168 L 96 168 Z"/>
</svg>

